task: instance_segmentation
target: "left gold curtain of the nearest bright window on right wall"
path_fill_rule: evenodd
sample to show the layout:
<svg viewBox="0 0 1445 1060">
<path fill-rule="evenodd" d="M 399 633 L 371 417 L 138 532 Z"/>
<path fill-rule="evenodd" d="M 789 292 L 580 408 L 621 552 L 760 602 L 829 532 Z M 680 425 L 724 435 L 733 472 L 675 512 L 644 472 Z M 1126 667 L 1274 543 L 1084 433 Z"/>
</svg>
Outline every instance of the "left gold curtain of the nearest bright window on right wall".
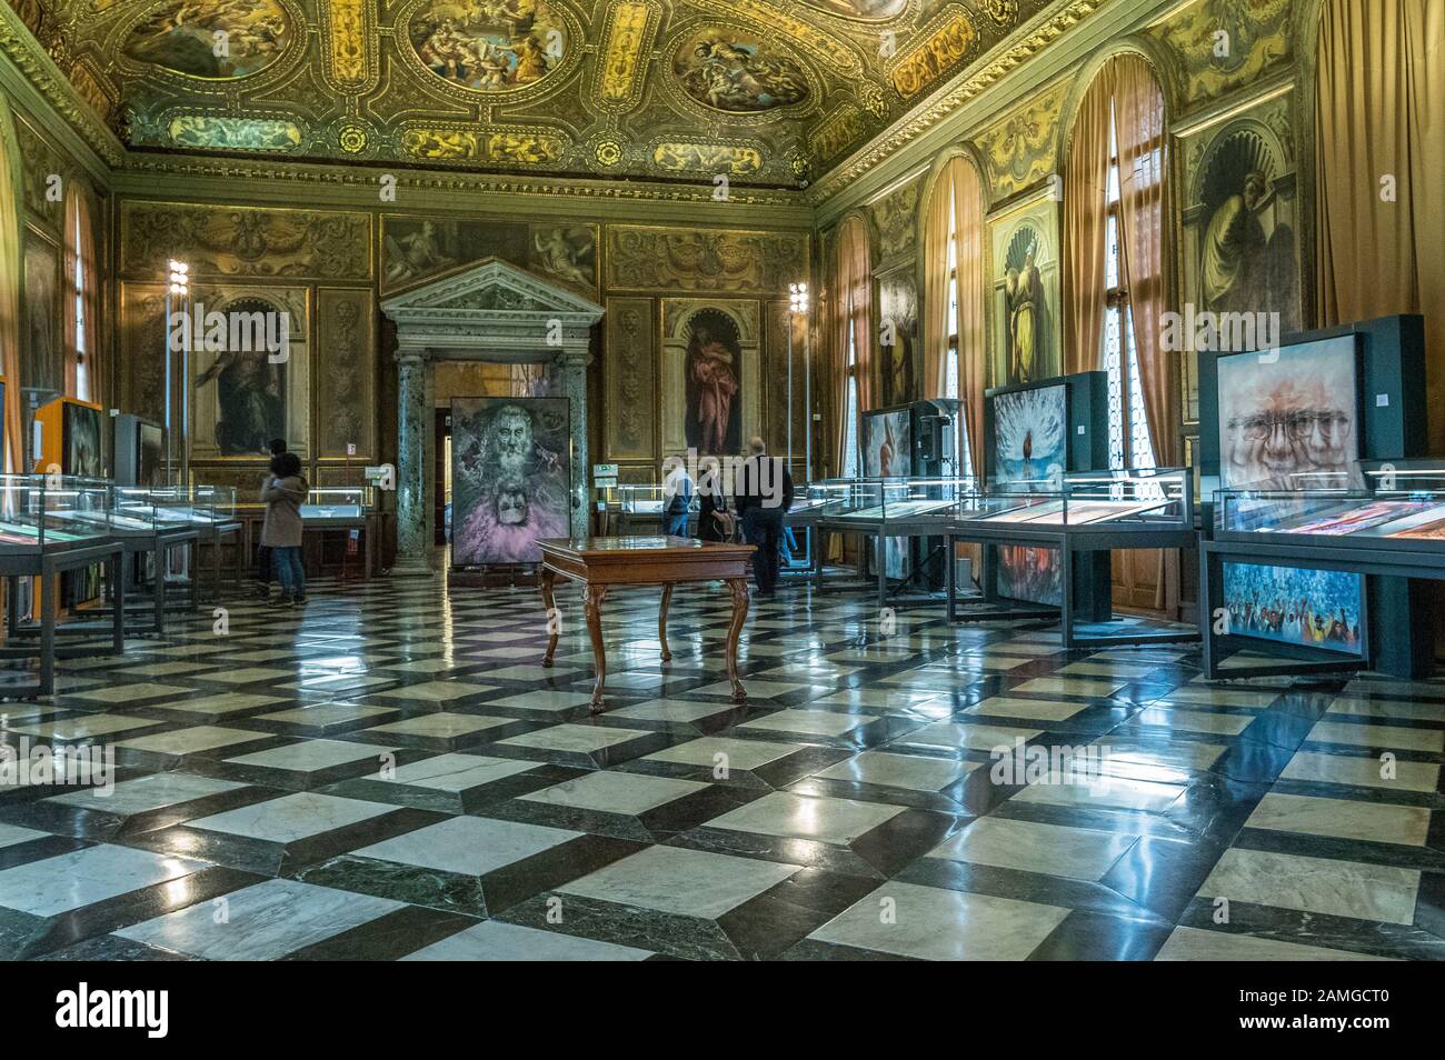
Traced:
<svg viewBox="0 0 1445 1060">
<path fill-rule="evenodd" d="M 1108 231 L 1108 111 L 1114 61 L 1094 78 L 1074 118 L 1064 173 L 1064 371 L 1095 371 L 1104 357 Z"/>
</svg>

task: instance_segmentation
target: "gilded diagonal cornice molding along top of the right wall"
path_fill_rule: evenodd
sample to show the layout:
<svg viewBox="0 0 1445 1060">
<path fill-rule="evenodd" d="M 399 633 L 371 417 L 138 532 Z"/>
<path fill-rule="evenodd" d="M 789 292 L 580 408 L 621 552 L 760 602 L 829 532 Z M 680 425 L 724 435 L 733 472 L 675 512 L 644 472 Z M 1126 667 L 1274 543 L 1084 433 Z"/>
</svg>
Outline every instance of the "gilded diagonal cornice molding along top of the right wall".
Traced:
<svg viewBox="0 0 1445 1060">
<path fill-rule="evenodd" d="M 1066 0 L 1058 10 L 1042 16 L 1012 43 L 997 49 L 983 66 L 959 74 L 942 91 L 935 92 L 913 111 L 894 121 L 890 129 L 870 140 L 851 159 L 829 170 L 809 189 L 808 201 L 818 205 L 841 194 L 854 181 L 919 139 L 925 131 L 1107 4 L 1108 0 Z"/>
</svg>

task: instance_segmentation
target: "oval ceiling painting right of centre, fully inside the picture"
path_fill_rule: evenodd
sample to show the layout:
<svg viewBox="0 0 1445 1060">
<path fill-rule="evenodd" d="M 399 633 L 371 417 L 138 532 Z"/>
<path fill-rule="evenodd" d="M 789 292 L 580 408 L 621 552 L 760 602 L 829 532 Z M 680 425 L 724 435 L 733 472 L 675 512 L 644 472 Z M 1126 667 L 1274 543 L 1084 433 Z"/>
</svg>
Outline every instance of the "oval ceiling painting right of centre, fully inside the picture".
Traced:
<svg viewBox="0 0 1445 1060">
<path fill-rule="evenodd" d="M 741 32 L 709 26 L 685 38 L 672 56 L 682 90 L 704 107 L 733 114 L 792 107 L 808 100 L 808 75 L 792 56 Z"/>
</svg>

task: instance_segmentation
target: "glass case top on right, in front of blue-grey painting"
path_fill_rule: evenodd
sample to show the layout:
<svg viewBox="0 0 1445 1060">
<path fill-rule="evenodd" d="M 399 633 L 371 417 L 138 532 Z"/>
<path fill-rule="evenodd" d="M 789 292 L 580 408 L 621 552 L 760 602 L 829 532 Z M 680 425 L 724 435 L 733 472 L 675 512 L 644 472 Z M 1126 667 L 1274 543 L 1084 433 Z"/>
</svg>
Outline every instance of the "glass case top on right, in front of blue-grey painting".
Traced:
<svg viewBox="0 0 1445 1060">
<path fill-rule="evenodd" d="M 1191 531 L 1194 479 L 1188 468 L 1126 468 L 1007 482 L 965 497 L 958 518 L 1016 531 Z"/>
</svg>

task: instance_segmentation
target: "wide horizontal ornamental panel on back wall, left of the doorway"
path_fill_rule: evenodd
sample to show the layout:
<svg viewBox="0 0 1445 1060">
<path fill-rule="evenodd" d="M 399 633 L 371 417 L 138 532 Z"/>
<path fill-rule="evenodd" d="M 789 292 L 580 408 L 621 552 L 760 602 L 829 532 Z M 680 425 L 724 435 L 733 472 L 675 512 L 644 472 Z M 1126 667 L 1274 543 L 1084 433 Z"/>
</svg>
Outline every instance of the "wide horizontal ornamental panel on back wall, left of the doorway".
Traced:
<svg viewBox="0 0 1445 1060">
<path fill-rule="evenodd" d="M 181 259 L 198 277 L 371 277 L 368 214 L 126 201 L 120 214 L 124 276 L 162 276 Z"/>
</svg>

